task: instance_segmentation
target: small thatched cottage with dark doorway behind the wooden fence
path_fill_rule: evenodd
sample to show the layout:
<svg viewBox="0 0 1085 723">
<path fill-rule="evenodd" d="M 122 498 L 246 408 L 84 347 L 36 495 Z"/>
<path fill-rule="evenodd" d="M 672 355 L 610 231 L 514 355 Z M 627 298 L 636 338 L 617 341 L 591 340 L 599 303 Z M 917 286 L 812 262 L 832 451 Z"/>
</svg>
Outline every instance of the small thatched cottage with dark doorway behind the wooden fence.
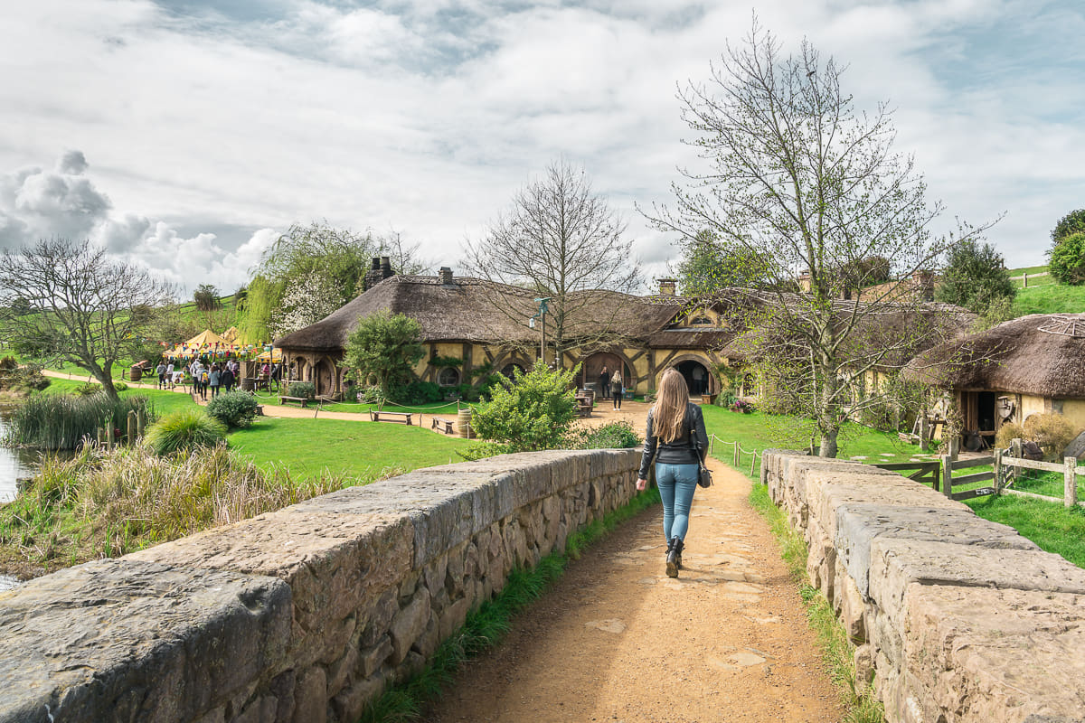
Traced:
<svg viewBox="0 0 1085 723">
<path fill-rule="evenodd" d="M 1085 426 L 1085 314 L 1031 314 L 929 349 L 906 376 L 955 395 L 966 430 L 1061 412 Z"/>
</svg>

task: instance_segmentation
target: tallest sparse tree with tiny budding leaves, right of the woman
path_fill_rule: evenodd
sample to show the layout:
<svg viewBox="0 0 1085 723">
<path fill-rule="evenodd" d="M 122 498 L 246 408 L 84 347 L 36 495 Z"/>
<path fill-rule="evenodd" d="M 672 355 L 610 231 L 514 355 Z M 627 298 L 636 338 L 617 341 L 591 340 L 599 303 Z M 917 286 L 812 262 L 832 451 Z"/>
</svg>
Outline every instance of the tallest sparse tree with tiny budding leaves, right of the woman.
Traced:
<svg viewBox="0 0 1085 723">
<path fill-rule="evenodd" d="M 682 169 L 675 206 L 648 215 L 685 238 L 707 231 L 755 259 L 771 289 L 771 304 L 750 305 L 750 325 L 771 330 L 757 357 L 800 385 L 822 456 L 835 456 L 866 372 L 904 363 L 903 351 L 955 328 L 931 320 L 927 307 L 914 317 L 923 323 L 879 339 L 879 319 L 912 318 L 909 309 L 923 304 L 914 277 L 991 225 L 934 236 L 942 204 L 928 205 L 912 158 L 894 153 L 892 112 L 880 104 L 870 115 L 857 113 L 841 90 L 842 72 L 805 40 L 797 56 L 781 56 L 754 18 L 706 83 L 679 91 L 684 119 L 697 133 L 689 143 L 709 169 Z M 871 257 L 888 259 L 895 281 L 871 286 L 877 264 L 864 261 Z"/>
</svg>

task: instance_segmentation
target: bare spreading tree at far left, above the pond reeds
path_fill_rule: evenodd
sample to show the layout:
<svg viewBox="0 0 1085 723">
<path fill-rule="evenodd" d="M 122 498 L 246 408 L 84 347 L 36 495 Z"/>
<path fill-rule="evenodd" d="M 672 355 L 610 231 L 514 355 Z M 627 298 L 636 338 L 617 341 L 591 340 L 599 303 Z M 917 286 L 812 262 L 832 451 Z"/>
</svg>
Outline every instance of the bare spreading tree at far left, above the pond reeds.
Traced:
<svg viewBox="0 0 1085 723">
<path fill-rule="evenodd" d="M 105 249 L 65 238 L 0 256 L 0 338 L 72 362 L 116 398 L 113 365 L 138 353 L 174 289 Z"/>
</svg>

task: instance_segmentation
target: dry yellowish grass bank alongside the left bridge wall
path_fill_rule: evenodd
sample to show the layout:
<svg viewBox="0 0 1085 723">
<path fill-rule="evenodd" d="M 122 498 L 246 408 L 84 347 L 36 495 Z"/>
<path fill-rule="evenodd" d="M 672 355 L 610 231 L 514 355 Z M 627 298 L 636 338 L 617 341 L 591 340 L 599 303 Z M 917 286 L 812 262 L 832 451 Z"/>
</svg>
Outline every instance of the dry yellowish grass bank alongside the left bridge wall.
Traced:
<svg viewBox="0 0 1085 723">
<path fill-rule="evenodd" d="M 123 555 L 369 481 L 297 479 L 226 444 L 168 456 L 85 447 L 72 460 L 46 457 L 31 485 L 0 507 L 0 572 L 25 578 Z"/>
</svg>

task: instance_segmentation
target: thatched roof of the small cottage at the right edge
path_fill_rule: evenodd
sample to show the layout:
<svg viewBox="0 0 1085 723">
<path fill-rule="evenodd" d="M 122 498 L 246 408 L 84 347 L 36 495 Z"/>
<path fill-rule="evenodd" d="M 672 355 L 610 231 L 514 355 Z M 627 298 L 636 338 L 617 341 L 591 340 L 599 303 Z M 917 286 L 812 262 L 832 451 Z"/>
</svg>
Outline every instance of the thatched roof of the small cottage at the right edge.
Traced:
<svg viewBox="0 0 1085 723">
<path fill-rule="evenodd" d="M 1004 322 L 919 354 L 905 377 L 950 389 L 1085 398 L 1085 314 Z"/>
</svg>

